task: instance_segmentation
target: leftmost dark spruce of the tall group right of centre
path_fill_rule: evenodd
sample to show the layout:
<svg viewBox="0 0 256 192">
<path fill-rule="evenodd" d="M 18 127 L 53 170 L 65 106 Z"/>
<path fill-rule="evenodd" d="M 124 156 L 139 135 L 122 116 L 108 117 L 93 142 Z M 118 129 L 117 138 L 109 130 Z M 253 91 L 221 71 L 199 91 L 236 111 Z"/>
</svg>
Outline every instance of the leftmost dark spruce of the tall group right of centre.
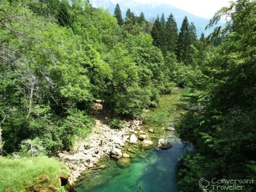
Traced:
<svg viewBox="0 0 256 192">
<path fill-rule="evenodd" d="M 166 29 L 161 23 L 159 15 L 157 15 L 157 19 L 152 27 L 151 36 L 153 37 L 153 45 L 165 53 L 167 51 Z"/>
</svg>

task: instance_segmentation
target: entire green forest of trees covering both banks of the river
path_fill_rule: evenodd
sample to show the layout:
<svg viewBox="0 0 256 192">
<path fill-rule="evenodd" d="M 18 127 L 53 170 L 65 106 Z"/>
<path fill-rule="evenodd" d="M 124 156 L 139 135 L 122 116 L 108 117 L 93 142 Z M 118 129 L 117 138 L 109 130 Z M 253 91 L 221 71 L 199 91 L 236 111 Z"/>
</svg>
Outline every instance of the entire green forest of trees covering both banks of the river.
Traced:
<svg viewBox="0 0 256 192">
<path fill-rule="evenodd" d="M 96 100 L 118 126 L 184 87 L 192 96 L 176 131 L 194 150 L 179 158 L 179 191 L 198 191 L 200 178 L 253 178 L 256 1 L 223 7 L 208 37 L 187 16 L 180 29 L 165 18 L 128 9 L 123 19 L 119 4 L 112 15 L 89 0 L 1 0 L 0 165 L 72 149 L 92 130 Z"/>
</svg>

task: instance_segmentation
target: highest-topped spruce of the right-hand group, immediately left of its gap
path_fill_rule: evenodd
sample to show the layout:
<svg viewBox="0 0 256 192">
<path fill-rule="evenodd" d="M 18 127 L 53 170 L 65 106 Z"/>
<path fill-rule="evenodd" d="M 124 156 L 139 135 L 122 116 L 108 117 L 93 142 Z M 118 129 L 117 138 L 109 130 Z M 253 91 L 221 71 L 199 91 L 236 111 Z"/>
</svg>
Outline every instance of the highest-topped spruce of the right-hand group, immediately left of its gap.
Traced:
<svg viewBox="0 0 256 192">
<path fill-rule="evenodd" d="M 167 32 L 167 51 L 176 52 L 178 43 L 178 28 L 173 14 L 170 14 L 170 16 L 168 17 L 165 27 Z"/>
</svg>

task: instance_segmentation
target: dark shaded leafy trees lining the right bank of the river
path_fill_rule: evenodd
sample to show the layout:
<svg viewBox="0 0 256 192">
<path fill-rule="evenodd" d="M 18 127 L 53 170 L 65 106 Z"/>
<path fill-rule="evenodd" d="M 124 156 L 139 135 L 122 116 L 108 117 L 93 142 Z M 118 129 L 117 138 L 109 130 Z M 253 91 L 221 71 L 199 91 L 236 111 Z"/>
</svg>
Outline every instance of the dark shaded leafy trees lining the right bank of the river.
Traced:
<svg viewBox="0 0 256 192">
<path fill-rule="evenodd" d="M 196 51 L 196 70 L 188 85 L 194 97 L 191 110 L 178 133 L 195 150 L 180 158 L 180 191 L 198 191 L 205 178 L 252 179 L 256 175 L 256 1 L 240 0 L 218 11 L 209 26 L 221 16 L 230 17 L 208 40 L 226 36 L 218 47 Z M 203 41 L 204 36 L 201 36 Z M 243 191 L 255 191 L 246 184 Z"/>
</svg>

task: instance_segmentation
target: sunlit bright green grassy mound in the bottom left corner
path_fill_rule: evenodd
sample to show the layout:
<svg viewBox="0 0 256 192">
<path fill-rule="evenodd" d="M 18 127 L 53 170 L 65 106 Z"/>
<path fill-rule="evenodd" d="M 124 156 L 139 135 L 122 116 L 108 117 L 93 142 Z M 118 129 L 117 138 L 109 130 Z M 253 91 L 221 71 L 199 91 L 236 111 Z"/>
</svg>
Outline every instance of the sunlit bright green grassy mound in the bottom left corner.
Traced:
<svg viewBox="0 0 256 192">
<path fill-rule="evenodd" d="M 50 188 L 60 186 L 60 175 L 69 175 L 69 170 L 56 158 L 43 156 L 13 160 L 0 156 L 0 192 L 29 191 L 35 187 L 40 191 L 50 191 Z M 38 183 L 43 176 L 48 176 L 50 181 Z"/>
</svg>

